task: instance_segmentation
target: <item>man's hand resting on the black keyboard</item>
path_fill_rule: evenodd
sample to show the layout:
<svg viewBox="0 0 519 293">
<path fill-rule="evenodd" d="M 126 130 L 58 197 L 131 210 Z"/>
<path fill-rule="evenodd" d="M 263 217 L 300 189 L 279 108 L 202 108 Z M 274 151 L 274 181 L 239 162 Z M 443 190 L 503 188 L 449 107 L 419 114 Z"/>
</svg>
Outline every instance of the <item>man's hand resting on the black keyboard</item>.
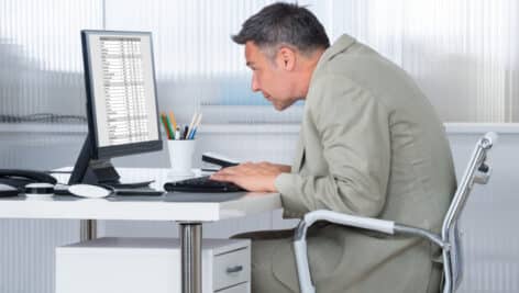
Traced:
<svg viewBox="0 0 519 293">
<path fill-rule="evenodd" d="M 249 191 L 276 192 L 274 181 L 283 172 L 289 172 L 290 166 L 270 162 L 245 162 L 223 168 L 211 176 L 212 180 L 233 182 Z"/>
</svg>

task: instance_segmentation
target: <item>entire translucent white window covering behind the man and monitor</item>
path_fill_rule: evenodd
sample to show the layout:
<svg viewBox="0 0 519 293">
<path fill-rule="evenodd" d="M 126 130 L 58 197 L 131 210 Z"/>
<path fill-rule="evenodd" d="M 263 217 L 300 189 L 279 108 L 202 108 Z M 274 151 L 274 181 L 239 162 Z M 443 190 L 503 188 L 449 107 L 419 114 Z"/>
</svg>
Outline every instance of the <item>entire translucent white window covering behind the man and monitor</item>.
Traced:
<svg viewBox="0 0 519 293">
<path fill-rule="evenodd" d="M 84 115 L 80 29 L 146 30 L 154 36 L 161 110 L 209 123 L 297 123 L 250 90 L 231 34 L 273 1 L 0 1 L 0 114 Z M 518 122 L 517 0 L 299 1 L 331 41 L 347 33 L 405 68 L 445 122 Z M 73 13 L 70 13 L 73 12 Z"/>
</svg>

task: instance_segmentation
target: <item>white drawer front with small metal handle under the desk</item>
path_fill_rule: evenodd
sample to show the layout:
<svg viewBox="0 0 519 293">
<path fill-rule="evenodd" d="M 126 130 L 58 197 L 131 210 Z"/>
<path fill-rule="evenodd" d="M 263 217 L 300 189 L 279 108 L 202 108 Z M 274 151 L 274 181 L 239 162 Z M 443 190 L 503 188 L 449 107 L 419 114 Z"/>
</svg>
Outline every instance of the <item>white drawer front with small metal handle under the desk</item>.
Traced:
<svg viewBox="0 0 519 293">
<path fill-rule="evenodd" d="M 243 248 L 214 256 L 213 288 L 221 290 L 251 280 L 251 251 Z M 227 292 L 227 291 L 225 291 Z"/>
</svg>

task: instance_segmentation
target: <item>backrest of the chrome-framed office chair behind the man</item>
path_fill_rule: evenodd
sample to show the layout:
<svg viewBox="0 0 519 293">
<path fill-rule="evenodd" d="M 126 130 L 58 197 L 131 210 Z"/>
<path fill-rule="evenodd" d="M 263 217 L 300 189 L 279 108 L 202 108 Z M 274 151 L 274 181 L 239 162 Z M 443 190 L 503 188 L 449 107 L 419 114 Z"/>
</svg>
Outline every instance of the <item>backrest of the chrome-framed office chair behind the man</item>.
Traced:
<svg viewBox="0 0 519 293">
<path fill-rule="evenodd" d="M 457 230 L 457 221 L 475 183 L 486 184 L 490 178 L 492 168 L 487 164 L 487 153 L 497 142 L 496 133 L 487 133 L 476 143 L 465 172 L 459 182 L 456 193 L 445 214 L 442 225 L 442 240 L 450 245 L 443 249 L 444 290 L 454 292 L 463 277 L 463 260 Z"/>
</svg>

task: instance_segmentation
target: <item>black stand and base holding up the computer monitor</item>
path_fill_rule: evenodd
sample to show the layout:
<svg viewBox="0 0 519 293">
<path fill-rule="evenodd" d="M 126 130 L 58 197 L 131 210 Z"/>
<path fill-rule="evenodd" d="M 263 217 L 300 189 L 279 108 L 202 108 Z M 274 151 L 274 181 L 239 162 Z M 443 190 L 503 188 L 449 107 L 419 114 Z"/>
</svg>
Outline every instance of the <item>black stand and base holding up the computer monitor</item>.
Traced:
<svg viewBox="0 0 519 293">
<path fill-rule="evenodd" d="M 73 173 L 68 180 L 68 184 L 104 184 L 113 188 L 145 188 L 153 181 L 121 183 L 121 178 L 110 159 L 93 159 L 92 140 L 90 134 L 87 135 L 82 144 L 81 151 L 74 165 Z"/>
</svg>

